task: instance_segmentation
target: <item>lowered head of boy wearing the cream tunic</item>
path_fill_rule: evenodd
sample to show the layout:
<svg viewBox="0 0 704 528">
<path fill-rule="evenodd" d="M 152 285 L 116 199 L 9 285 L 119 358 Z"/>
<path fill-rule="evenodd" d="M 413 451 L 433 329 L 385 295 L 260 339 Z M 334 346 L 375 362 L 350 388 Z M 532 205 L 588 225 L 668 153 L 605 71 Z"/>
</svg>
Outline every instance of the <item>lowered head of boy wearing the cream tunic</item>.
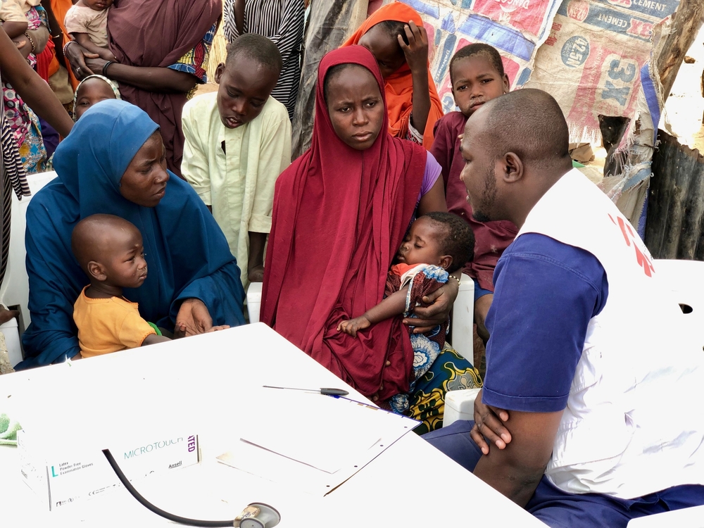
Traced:
<svg viewBox="0 0 704 528">
<path fill-rule="evenodd" d="M 261 35 L 245 33 L 227 44 L 227 59 L 215 70 L 218 111 L 225 127 L 241 127 L 261 113 L 283 64 L 276 44 Z"/>
</svg>

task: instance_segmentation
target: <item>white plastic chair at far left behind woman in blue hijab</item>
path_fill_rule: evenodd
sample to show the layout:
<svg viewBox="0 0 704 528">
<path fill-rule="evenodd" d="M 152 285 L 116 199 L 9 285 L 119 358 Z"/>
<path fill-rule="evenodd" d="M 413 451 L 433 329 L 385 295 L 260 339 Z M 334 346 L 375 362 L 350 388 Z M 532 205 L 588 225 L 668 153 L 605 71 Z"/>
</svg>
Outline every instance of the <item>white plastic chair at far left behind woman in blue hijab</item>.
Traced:
<svg viewBox="0 0 704 528">
<path fill-rule="evenodd" d="M 39 189 L 42 189 L 44 185 L 54 180 L 55 177 L 56 172 L 53 171 L 27 176 L 27 183 L 30 185 L 32 196 Z M 27 214 L 27 205 L 30 203 L 32 196 L 25 196 L 20 201 L 15 196 L 15 193 L 12 193 L 9 254 L 5 277 L 2 284 L 0 284 L 0 303 L 4 306 L 19 307 L 21 329 L 26 328 L 30 324 L 30 310 L 27 308 L 30 296 L 30 283 L 25 268 L 25 256 L 27 255 L 27 251 L 25 251 L 25 215 Z M 5 334 L 10 363 L 16 365 L 22 360 L 19 338 L 20 327 L 12 320 L 2 325 L 0 331 Z"/>
</svg>

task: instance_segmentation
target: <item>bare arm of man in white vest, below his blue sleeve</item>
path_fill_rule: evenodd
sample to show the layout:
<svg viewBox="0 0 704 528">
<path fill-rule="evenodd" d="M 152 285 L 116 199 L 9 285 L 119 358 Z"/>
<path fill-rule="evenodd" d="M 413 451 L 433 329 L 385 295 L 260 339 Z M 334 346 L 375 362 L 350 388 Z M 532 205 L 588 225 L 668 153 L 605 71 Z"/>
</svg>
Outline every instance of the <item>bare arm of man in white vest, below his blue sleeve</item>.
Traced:
<svg viewBox="0 0 704 528">
<path fill-rule="evenodd" d="M 510 444 L 483 455 L 474 474 L 517 505 L 525 506 L 550 460 L 561 417 L 562 411 L 511 411 Z"/>
</svg>

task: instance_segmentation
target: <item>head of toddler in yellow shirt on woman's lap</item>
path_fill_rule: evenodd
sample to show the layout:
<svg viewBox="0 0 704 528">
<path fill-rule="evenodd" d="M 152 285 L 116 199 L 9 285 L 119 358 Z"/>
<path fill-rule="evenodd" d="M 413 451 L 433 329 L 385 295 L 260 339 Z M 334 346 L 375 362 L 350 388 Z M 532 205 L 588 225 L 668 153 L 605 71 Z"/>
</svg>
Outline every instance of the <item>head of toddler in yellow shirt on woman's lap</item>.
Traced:
<svg viewBox="0 0 704 528">
<path fill-rule="evenodd" d="M 91 284 L 139 288 L 146 279 L 142 234 L 113 215 L 91 215 L 73 228 L 71 250 Z"/>
</svg>

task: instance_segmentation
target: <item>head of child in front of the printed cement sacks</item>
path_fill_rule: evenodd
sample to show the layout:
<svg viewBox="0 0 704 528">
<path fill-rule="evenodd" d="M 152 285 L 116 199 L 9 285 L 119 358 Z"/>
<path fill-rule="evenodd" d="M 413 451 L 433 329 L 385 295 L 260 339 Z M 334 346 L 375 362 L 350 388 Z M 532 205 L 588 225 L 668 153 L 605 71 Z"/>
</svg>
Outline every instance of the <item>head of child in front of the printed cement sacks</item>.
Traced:
<svg viewBox="0 0 704 528">
<path fill-rule="evenodd" d="M 450 61 L 450 82 L 455 104 L 467 117 L 510 90 L 501 55 L 489 44 L 469 44 L 458 49 Z"/>
</svg>

